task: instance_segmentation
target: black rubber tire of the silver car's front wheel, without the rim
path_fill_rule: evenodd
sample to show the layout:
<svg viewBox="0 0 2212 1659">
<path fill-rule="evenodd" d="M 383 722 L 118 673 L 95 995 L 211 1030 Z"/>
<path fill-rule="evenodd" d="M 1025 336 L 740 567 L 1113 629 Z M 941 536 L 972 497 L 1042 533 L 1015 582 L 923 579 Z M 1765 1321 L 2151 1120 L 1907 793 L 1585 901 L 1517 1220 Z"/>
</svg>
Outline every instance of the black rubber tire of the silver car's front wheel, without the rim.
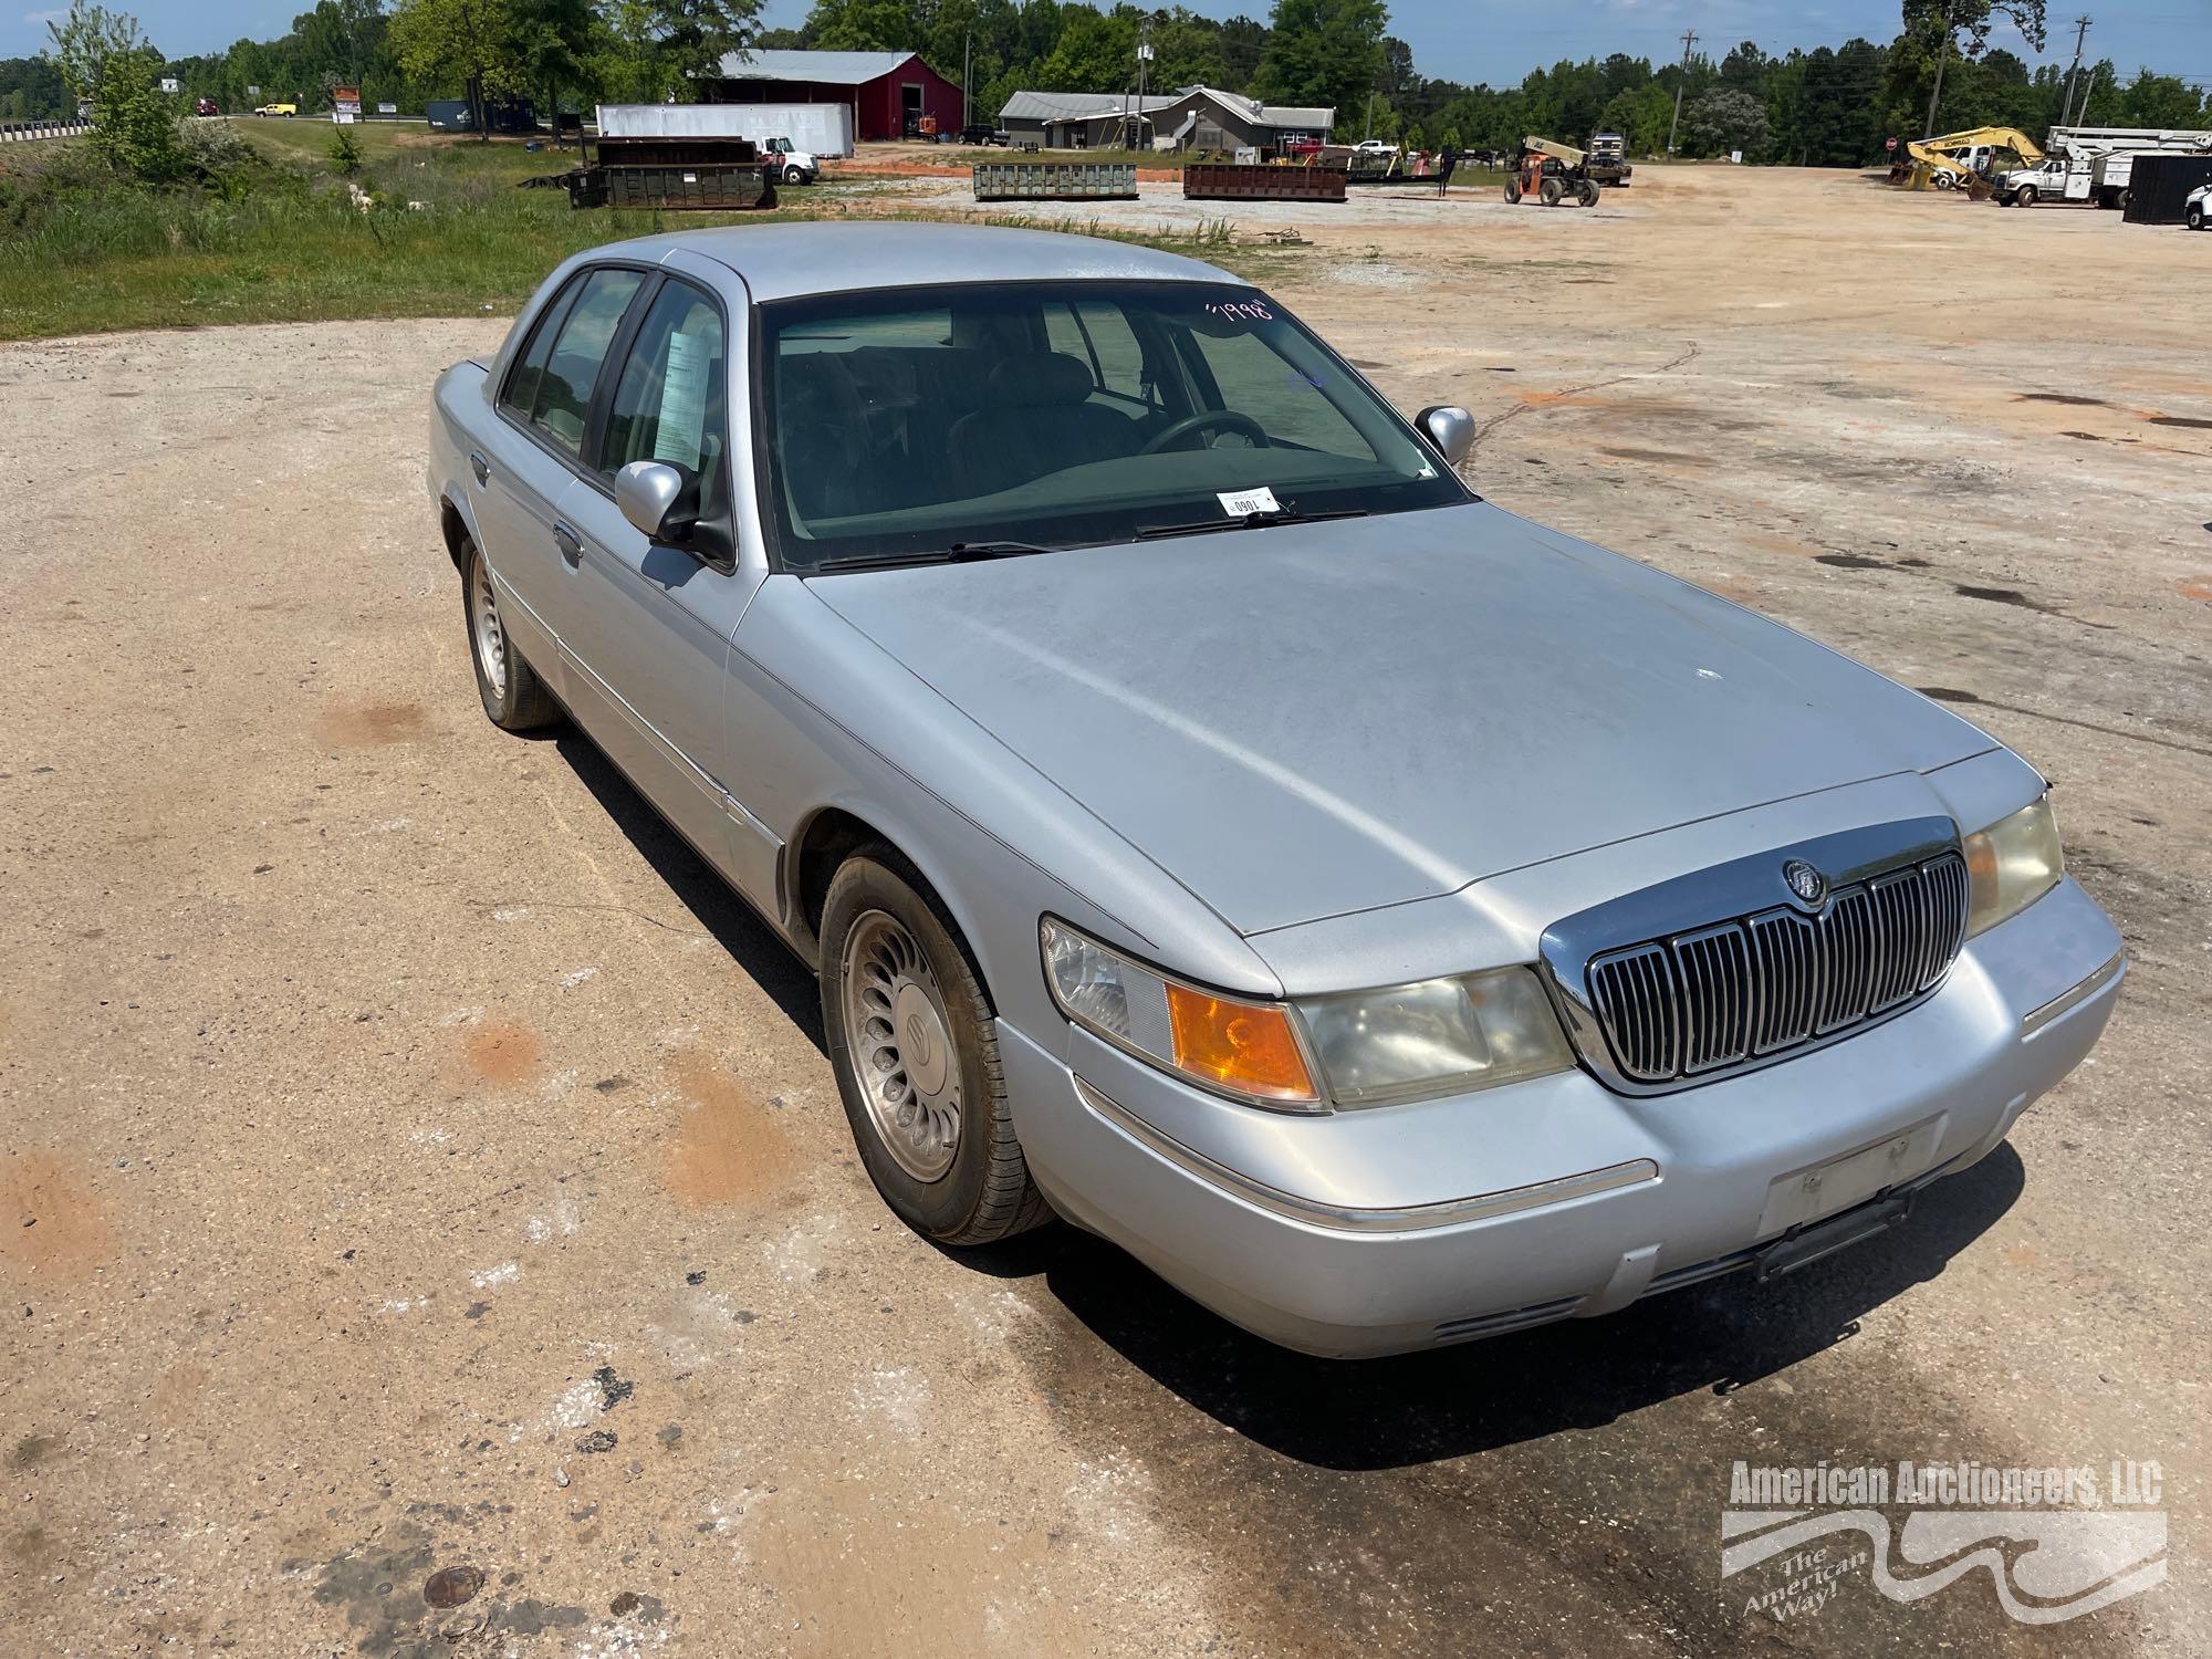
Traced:
<svg viewBox="0 0 2212 1659">
<path fill-rule="evenodd" d="M 854 1060 L 856 1033 L 847 1029 L 845 1013 L 845 958 L 856 927 L 863 920 L 880 927 L 874 920 L 878 916 L 894 920 L 920 949 L 940 993 L 951 1055 L 958 1066 L 958 1139 L 949 1168 L 933 1179 L 918 1179 L 900 1166 L 898 1155 L 883 1139 L 874 1108 L 860 1093 L 860 1064 Z M 945 1245 L 998 1243 L 1051 1221 L 1053 1210 L 1029 1179 L 1029 1161 L 1013 1133 L 1006 1077 L 998 1057 L 993 1013 L 982 978 L 975 973 L 945 905 L 896 849 L 880 843 L 860 847 L 830 880 L 830 896 L 823 902 L 821 964 L 823 1035 L 827 1037 L 830 1068 L 836 1073 L 852 1139 L 860 1148 L 860 1166 L 894 1214 L 925 1239 Z M 878 1042 L 883 1040 L 878 1037 Z M 902 1068 L 898 1035 L 894 1033 L 887 1042 L 894 1068 Z M 876 1055 L 883 1053 L 885 1048 L 878 1046 Z M 878 1066 L 876 1057 L 869 1064 Z M 894 1073 L 880 1075 L 889 1079 Z"/>
</svg>

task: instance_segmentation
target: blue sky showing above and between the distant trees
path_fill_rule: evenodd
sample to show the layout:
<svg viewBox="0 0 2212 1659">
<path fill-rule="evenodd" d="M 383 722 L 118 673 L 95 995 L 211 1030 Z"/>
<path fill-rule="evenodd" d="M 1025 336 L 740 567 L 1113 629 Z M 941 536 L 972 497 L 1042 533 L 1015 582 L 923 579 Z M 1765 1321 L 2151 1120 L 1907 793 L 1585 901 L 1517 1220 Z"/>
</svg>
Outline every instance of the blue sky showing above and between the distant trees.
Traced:
<svg viewBox="0 0 2212 1659">
<path fill-rule="evenodd" d="M 1265 15 L 1270 0 L 1188 0 L 1212 15 Z M 283 33 L 301 0 L 108 0 L 133 11 L 155 44 L 173 58 L 217 51 L 241 35 L 265 40 Z M 0 58 L 35 53 L 46 42 L 44 20 L 62 15 L 53 0 L 0 0 Z M 2073 18 L 2095 15 L 2088 55 L 2110 58 L 2124 75 L 2141 64 L 2199 84 L 2212 82 L 2212 0 L 2141 0 L 2135 7 L 2053 0 L 2053 40 L 2046 55 L 2073 53 Z M 768 0 L 768 22 L 796 24 L 807 0 Z M 2064 24 L 2062 24 L 2064 18 Z M 1896 0 L 1394 0 L 1391 29 L 1413 46 L 1425 75 L 1493 86 L 1517 82 L 1537 64 L 1559 58 L 1626 51 L 1637 58 L 1674 58 L 1681 31 L 1699 33 L 1699 51 L 1719 53 L 1739 40 L 1767 51 L 1840 46 L 1851 35 L 1889 40 L 1898 29 Z M 2024 44 L 2000 29 L 1995 44 L 2024 58 Z"/>
</svg>

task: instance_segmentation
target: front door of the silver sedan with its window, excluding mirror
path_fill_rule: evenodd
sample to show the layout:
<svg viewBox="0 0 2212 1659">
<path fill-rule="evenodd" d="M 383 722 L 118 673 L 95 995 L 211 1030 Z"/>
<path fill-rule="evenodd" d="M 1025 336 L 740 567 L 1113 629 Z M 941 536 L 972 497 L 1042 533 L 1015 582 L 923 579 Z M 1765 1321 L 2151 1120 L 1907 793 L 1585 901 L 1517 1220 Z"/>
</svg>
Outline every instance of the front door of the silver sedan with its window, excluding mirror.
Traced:
<svg viewBox="0 0 2212 1659">
<path fill-rule="evenodd" d="M 655 281 L 611 378 L 595 476 L 560 504 L 577 538 L 571 661 L 615 717 L 595 737 L 622 770 L 741 889 L 772 902 L 772 841 L 737 805 L 723 739 L 730 635 L 759 584 L 732 557 L 730 327 L 706 290 Z M 613 478 L 633 460 L 695 480 L 690 535 L 657 542 L 622 515 Z"/>
</svg>

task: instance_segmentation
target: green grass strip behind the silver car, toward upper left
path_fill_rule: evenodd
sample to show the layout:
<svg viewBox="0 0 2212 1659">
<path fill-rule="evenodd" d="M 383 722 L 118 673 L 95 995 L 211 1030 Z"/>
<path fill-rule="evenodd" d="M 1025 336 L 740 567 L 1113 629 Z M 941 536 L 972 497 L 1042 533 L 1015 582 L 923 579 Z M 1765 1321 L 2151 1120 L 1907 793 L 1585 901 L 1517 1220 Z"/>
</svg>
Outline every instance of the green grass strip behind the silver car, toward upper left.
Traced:
<svg viewBox="0 0 2212 1659">
<path fill-rule="evenodd" d="M 867 195 L 847 190 L 787 190 L 785 206 L 772 212 L 577 212 L 566 190 L 515 188 L 573 166 L 573 150 L 526 153 L 520 142 L 442 139 L 376 122 L 354 128 L 367 157 L 361 181 L 398 206 L 361 212 L 330 168 L 327 122 L 237 126 L 268 166 L 234 201 L 190 190 L 75 192 L 40 201 L 20 230 L 0 234 L 0 341 L 219 323 L 507 316 L 562 259 L 608 241 L 867 212 Z M 22 188 L 22 175 L 13 177 Z M 1252 276 L 1285 261 L 1279 250 L 1234 246 L 1228 221 L 1197 232 L 1104 219 L 1000 223 L 1172 248 Z"/>
</svg>

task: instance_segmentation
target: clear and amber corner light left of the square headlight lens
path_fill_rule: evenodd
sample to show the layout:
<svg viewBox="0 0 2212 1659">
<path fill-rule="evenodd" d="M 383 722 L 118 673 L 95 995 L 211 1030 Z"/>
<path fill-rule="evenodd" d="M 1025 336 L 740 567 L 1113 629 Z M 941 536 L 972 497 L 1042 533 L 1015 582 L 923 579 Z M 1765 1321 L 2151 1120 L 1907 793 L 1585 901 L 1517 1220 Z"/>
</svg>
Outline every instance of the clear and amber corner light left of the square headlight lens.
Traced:
<svg viewBox="0 0 2212 1659">
<path fill-rule="evenodd" d="M 1261 1106 L 1321 1110 L 1298 1031 L 1281 1002 L 1214 995 L 1077 933 L 1040 927 L 1044 982 L 1084 1031 L 1197 1084 Z"/>
</svg>

